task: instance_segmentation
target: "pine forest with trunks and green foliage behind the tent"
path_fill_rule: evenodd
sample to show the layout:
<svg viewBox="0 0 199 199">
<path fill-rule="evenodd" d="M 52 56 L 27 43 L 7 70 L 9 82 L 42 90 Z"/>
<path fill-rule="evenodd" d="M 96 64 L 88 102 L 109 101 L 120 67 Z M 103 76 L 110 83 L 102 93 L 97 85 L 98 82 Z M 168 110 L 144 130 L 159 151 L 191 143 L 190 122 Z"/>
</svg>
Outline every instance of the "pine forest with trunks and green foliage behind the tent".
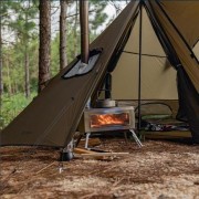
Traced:
<svg viewBox="0 0 199 199">
<path fill-rule="evenodd" d="M 90 42 L 128 2 L 88 1 Z M 80 0 L 0 1 L 0 129 L 41 91 L 42 70 L 45 71 L 43 77 L 48 82 L 80 54 L 78 7 Z M 44 25 L 50 27 L 50 31 L 42 33 L 41 18 L 48 18 L 44 14 L 49 14 Z M 42 54 L 41 42 L 49 44 L 49 54 Z M 45 56 L 48 67 L 40 60 L 43 59 L 45 63 Z"/>
</svg>

